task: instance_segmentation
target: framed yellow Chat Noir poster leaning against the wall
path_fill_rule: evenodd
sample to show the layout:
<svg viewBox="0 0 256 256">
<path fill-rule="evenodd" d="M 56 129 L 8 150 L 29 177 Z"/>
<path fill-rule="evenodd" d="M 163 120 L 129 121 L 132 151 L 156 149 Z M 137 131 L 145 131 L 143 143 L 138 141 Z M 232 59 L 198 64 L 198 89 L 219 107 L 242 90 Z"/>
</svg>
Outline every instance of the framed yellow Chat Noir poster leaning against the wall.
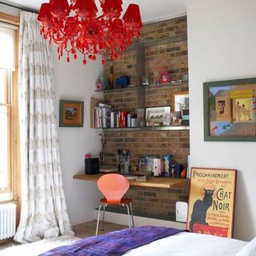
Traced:
<svg viewBox="0 0 256 256">
<path fill-rule="evenodd" d="M 233 237 L 236 170 L 191 168 L 186 228 Z"/>
</svg>

